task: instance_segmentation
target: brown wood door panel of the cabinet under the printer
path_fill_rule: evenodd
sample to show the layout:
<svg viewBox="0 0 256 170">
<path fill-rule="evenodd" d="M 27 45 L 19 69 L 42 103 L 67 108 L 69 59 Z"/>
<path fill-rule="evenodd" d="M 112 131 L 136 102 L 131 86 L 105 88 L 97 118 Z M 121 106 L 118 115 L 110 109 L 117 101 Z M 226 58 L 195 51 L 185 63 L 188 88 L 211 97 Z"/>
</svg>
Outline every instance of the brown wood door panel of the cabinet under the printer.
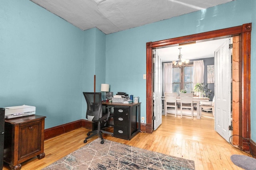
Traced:
<svg viewBox="0 0 256 170">
<path fill-rule="evenodd" d="M 20 125 L 18 160 L 41 150 L 41 121 Z"/>
</svg>

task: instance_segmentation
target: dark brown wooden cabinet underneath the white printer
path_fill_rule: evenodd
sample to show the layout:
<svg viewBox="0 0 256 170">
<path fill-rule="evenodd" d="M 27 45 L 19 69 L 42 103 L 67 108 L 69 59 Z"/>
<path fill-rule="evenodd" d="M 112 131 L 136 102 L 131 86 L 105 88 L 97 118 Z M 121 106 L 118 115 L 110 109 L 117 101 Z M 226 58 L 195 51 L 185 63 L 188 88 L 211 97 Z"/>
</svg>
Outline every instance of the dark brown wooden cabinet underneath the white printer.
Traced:
<svg viewBox="0 0 256 170">
<path fill-rule="evenodd" d="M 45 116 L 30 115 L 4 122 L 4 162 L 19 170 L 22 162 L 37 156 L 44 158 Z"/>
</svg>

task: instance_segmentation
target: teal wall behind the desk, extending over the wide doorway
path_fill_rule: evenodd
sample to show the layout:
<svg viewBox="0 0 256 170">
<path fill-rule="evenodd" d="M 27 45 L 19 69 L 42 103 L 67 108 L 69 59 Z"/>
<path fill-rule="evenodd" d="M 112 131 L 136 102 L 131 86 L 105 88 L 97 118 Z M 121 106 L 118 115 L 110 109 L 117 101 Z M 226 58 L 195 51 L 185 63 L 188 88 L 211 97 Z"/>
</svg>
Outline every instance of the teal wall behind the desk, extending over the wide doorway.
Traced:
<svg viewBox="0 0 256 170">
<path fill-rule="evenodd" d="M 246 3 L 245 3 L 246 2 Z M 146 42 L 252 22 L 252 1 L 236 0 L 206 10 L 106 35 L 106 82 L 114 93 L 140 97 L 146 117 Z"/>
</svg>

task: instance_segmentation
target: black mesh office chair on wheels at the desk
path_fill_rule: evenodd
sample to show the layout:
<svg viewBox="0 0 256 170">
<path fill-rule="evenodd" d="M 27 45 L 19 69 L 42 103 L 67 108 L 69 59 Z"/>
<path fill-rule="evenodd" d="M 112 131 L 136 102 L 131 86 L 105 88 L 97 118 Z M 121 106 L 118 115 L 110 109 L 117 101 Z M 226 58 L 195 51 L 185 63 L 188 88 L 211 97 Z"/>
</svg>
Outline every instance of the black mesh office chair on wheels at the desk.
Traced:
<svg viewBox="0 0 256 170">
<path fill-rule="evenodd" d="M 88 137 L 84 139 L 84 143 L 87 143 L 87 139 L 90 137 L 98 134 L 101 139 L 100 143 L 103 144 L 104 139 L 102 137 L 102 133 L 110 134 L 113 136 L 113 133 L 102 130 L 102 126 L 106 126 L 110 117 L 110 111 L 107 113 L 102 113 L 102 101 L 100 92 L 83 92 L 83 94 L 87 103 L 86 119 L 88 119 L 88 121 L 92 121 L 93 123 L 98 123 L 98 129 L 89 131 L 87 133 Z"/>
</svg>

